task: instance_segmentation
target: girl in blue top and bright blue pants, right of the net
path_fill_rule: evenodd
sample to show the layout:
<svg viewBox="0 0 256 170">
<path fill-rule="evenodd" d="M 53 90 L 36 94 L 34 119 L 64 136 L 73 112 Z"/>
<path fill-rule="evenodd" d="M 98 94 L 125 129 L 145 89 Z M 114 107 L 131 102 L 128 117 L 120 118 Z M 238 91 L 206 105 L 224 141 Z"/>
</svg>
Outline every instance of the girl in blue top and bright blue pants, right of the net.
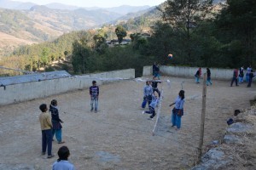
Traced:
<svg viewBox="0 0 256 170">
<path fill-rule="evenodd" d="M 177 127 L 179 129 L 181 127 L 181 117 L 183 116 L 183 105 L 185 102 L 185 92 L 184 90 L 179 91 L 177 99 L 170 106 L 175 105 L 172 109 L 172 127 Z"/>
</svg>

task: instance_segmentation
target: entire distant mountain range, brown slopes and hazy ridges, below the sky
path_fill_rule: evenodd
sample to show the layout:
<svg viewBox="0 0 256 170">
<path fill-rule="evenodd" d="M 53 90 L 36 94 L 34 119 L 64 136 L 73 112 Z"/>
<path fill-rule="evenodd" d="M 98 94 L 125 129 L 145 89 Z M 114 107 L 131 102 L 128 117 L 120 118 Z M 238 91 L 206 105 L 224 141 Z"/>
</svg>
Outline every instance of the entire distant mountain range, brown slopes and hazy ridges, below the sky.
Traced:
<svg viewBox="0 0 256 170">
<path fill-rule="evenodd" d="M 100 27 L 113 20 L 118 23 L 117 19 L 129 20 L 148 12 L 148 7 L 78 8 L 61 3 L 36 5 L 0 0 L 0 54 L 21 44 L 51 41 L 70 31 Z"/>
</svg>

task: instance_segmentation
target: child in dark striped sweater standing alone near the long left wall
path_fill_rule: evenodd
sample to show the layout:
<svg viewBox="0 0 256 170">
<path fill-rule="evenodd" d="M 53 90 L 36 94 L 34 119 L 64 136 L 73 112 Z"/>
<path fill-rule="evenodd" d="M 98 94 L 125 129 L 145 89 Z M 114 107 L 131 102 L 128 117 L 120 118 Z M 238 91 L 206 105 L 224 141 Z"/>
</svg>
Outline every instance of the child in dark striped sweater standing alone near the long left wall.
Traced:
<svg viewBox="0 0 256 170">
<path fill-rule="evenodd" d="M 95 112 L 98 111 L 98 99 L 99 99 L 100 88 L 96 85 L 96 81 L 92 81 L 92 86 L 90 86 L 90 111 L 95 109 Z M 94 107 L 93 108 L 93 104 Z"/>
</svg>

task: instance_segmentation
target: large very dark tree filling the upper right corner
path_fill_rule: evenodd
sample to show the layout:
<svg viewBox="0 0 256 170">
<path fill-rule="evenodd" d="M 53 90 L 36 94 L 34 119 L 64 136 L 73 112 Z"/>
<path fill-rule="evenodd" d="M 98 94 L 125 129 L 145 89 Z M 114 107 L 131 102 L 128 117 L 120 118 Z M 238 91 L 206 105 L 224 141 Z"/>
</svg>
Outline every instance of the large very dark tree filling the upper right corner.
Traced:
<svg viewBox="0 0 256 170">
<path fill-rule="evenodd" d="M 232 66 L 253 65 L 256 60 L 256 1 L 227 0 L 215 24 L 216 37 L 224 43 L 223 53 L 236 62 Z"/>
</svg>

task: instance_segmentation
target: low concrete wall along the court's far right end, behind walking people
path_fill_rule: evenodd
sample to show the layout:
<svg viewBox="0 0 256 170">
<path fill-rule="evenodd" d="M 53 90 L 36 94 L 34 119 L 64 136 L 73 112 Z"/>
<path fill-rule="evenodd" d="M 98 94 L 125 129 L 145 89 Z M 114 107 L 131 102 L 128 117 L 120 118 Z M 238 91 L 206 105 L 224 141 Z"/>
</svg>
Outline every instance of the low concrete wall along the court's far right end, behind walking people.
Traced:
<svg viewBox="0 0 256 170">
<path fill-rule="evenodd" d="M 198 67 L 184 67 L 184 66 L 165 66 L 160 65 L 160 73 L 166 76 L 175 77 L 194 77 Z M 201 68 L 202 74 L 207 72 L 207 68 Z M 218 69 L 210 68 L 212 79 L 231 80 L 233 77 L 232 69 Z M 143 76 L 152 76 L 152 66 L 143 67 Z"/>
</svg>

